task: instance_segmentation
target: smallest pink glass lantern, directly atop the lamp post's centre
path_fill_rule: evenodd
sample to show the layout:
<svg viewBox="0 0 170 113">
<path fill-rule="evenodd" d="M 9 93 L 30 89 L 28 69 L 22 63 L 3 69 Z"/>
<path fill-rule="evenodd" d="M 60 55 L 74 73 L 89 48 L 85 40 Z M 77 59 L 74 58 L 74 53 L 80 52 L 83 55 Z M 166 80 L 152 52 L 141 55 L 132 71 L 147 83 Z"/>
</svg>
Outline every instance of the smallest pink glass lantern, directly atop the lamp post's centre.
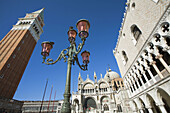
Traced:
<svg viewBox="0 0 170 113">
<path fill-rule="evenodd" d="M 76 39 L 77 32 L 73 29 L 73 27 L 69 28 L 68 34 L 68 40 L 71 42 Z"/>
</svg>

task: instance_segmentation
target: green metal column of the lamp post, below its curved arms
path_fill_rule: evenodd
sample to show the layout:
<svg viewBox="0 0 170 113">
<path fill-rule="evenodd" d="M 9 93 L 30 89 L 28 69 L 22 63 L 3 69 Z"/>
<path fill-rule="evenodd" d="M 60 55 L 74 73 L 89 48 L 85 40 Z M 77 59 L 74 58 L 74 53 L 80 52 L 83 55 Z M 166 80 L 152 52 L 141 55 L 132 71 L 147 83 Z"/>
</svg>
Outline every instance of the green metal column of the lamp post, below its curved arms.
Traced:
<svg viewBox="0 0 170 113">
<path fill-rule="evenodd" d="M 71 79 L 71 65 L 72 60 L 68 59 L 67 64 L 67 78 L 66 78 L 66 85 L 65 85 L 65 92 L 64 92 L 64 102 L 62 105 L 61 113 L 71 113 L 71 105 L 70 105 L 70 79 Z"/>
</svg>

